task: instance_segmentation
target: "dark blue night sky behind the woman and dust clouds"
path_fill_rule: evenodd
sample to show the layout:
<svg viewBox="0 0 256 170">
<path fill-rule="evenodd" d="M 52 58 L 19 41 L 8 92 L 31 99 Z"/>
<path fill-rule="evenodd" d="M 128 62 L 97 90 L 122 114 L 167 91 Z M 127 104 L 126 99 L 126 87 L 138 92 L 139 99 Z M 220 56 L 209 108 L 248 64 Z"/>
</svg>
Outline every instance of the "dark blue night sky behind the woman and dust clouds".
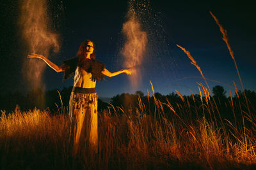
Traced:
<svg viewBox="0 0 256 170">
<path fill-rule="evenodd" d="M 147 2 L 147 1 L 145 1 Z M 141 24 L 148 33 L 147 52 L 141 66 L 141 85 L 132 89 L 126 74 L 97 83 L 100 97 L 112 97 L 141 90 L 147 94 L 150 80 L 155 92 L 169 94 L 178 90 L 189 95 L 198 94 L 196 82 L 200 73 L 176 44 L 188 50 L 201 67 L 210 88 L 221 85 L 232 90 L 233 81 L 241 85 L 236 67 L 222 40 L 218 25 L 209 11 L 220 20 L 228 32 L 245 89 L 256 90 L 256 22 L 253 1 L 150 1 L 150 15 L 143 15 Z M 1 92 L 29 90 L 22 76 L 22 63 L 31 53 L 22 40 L 19 26 L 19 1 L 1 2 Z M 61 60 L 76 56 L 85 39 L 95 42 L 96 59 L 104 62 L 109 71 L 122 69 L 120 50 L 124 45 L 122 24 L 127 20 L 127 1 L 49 1 L 52 30 L 60 35 L 61 50 L 50 59 L 60 65 Z M 73 79 L 62 82 L 63 73 L 47 67 L 44 83 L 47 90 L 62 89 Z M 219 81 L 219 82 L 216 82 Z"/>
</svg>

